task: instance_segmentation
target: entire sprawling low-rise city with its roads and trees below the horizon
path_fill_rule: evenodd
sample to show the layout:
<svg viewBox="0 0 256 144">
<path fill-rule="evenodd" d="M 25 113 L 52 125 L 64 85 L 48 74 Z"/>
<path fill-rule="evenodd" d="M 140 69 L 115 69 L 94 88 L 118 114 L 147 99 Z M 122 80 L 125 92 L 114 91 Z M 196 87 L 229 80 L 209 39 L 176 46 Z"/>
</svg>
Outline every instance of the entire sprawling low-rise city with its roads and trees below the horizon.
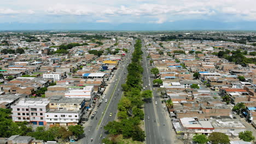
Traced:
<svg viewBox="0 0 256 144">
<path fill-rule="evenodd" d="M 249 31 L 0 32 L 0 143 L 255 143 L 255 50 Z"/>
</svg>

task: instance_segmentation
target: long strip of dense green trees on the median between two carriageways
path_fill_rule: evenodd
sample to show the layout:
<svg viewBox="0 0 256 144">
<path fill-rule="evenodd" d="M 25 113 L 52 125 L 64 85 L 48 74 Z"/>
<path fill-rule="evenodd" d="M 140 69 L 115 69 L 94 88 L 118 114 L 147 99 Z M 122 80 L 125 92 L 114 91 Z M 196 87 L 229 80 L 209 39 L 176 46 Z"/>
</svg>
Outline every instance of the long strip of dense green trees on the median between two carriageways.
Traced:
<svg viewBox="0 0 256 144">
<path fill-rule="evenodd" d="M 102 140 L 103 143 L 118 143 L 123 137 L 125 140 L 144 141 L 145 132 L 139 127 L 144 119 L 142 110 L 141 77 L 143 68 L 141 66 L 141 40 L 136 40 L 135 51 L 132 54 L 132 62 L 128 65 L 126 83 L 122 85 L 124 97 L 118 104 L 118 122 L 109 122 L 104 129 L 109 136 Z"/>
</svg>

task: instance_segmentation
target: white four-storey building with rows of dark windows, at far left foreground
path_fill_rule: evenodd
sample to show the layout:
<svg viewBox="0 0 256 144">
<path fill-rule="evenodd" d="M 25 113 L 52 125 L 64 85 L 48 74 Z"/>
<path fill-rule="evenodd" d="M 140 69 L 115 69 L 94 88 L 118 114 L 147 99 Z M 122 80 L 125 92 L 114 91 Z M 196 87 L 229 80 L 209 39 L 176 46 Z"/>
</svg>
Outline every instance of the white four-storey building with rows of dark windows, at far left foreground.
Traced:
<svg viewBox="0 0 256 144">
<path fill-rule="evenodd" d="M 49 110 L 49 100 L 43 98 L 22 98 L 11 105 L 14 122 L 29 122 L 35 125 L 45 125 L 45 112 Z"/>
</svg>

